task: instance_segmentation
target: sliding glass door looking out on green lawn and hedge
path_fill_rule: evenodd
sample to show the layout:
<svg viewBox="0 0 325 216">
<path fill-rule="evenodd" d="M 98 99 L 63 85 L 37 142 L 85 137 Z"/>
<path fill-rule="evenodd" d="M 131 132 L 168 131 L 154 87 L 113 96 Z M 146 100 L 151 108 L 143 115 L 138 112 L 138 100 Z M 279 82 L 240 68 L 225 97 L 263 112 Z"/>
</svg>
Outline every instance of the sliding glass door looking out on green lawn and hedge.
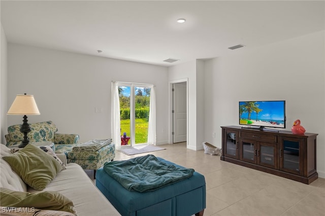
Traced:
<svg viewBox="0 0 325 216">
<path fill-rule="evenodd" d="M 148 142 L 150 85 L 119 83 L 121 146 Z"/>
</svg>

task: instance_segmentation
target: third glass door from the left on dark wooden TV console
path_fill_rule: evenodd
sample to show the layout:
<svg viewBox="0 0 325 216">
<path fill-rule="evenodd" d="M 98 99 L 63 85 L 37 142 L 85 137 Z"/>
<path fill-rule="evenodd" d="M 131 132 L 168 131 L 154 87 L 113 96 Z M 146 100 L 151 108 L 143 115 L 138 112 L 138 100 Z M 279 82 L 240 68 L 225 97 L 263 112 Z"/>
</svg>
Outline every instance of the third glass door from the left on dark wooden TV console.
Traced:
<svg viewBox="0 0 325 216">
<path fill-rule="evenodd" d="M 258 164 L 277 169 L 276 147 L 274 144 L 260 142 L 259 150 L 257 150 Z"/>
</svg>

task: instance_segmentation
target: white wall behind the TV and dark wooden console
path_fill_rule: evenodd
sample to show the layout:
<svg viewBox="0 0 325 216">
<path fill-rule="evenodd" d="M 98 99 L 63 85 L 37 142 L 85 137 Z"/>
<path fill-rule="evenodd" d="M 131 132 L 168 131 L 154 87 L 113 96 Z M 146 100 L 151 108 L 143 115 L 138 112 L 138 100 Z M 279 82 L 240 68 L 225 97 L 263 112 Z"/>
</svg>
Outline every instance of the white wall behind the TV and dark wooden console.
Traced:
<svg viewBox="0 0 325 216">
<path fill-rule="evenodd" d="M 286 130 L 300 119 L 317 136 L 317 172 L 325 177 L 324 31 L 205 62 L 205 136 L 221 147 L 220 126 L 238 125 L 238 101 L 286 100 Z M 211 133 L 216 132 L 212 138 Z"/>
</svg>

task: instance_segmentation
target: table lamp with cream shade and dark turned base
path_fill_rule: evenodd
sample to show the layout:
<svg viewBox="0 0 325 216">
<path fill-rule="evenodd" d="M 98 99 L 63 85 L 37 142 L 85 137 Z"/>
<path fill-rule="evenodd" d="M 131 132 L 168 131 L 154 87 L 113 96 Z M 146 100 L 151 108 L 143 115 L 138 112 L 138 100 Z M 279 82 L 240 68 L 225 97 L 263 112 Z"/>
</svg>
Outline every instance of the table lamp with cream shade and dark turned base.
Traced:
<svg viewBox="0 0 325 216">
<path fill-rule="evenodd" d="M 11 104 L 11 107 L 7 113 L 8 115 L 24 115 L 23 124 L 20 127 L 20 132 L 24 134 L 24 139 L 21 141 L 19 148 L 24 148 L 29 140 L 27 133 L 30 132 L 29 124 L 27 123 L 26 115 L 40 115 L 40 111 L 36 105 L 34 95 L 21 95 L 18 94 Z"/>
</svg>

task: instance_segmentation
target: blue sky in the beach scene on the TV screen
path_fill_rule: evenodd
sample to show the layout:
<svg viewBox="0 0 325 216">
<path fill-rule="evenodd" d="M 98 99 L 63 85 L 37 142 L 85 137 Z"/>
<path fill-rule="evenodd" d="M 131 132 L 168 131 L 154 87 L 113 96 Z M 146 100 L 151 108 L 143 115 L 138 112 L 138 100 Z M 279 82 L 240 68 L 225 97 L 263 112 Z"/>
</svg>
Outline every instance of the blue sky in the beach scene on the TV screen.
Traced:
<svg viewBox="0 0 325 216">
<path fill-rule="evenodd" d="M 244 104 L 240 102 L 239 105 Z M 258 108 L 262 111 L 258 113 L 258 120 L 272 120 L 272 121 L 284 121 L 284 101 L 258 101 Z M 248 118 L 248 113 L 243 113 L 242 119 Z M 252 112 L 250 115 L 251 120 L 256 120 L 256 113 Z"/>
</svg>

